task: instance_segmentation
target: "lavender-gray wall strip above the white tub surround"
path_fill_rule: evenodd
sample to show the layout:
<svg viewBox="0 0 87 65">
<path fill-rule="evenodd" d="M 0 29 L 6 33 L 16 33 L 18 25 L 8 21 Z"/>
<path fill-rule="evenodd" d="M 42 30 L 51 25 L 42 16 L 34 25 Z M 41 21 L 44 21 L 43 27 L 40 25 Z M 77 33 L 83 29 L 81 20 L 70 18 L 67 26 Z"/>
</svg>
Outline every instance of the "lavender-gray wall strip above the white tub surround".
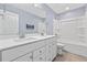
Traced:
<svg viewBox="0 0 87 65">
<path fill-rule="evenodd" d="M 69 19 L 69 18 L 76 18 L 85 14 L 85 7 L 74 9 L 61 14 L 57 14 L 57 19 L 64 20 L 64 19 Z"/>
</svg>

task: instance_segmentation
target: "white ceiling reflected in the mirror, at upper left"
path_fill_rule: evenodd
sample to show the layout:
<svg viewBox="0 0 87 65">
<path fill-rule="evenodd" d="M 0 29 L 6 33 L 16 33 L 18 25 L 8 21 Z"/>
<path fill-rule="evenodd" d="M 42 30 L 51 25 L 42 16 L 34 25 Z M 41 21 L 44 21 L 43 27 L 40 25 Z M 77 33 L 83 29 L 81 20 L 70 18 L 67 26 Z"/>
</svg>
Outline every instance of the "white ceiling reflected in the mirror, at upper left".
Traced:
<svg viewBox="0 0 87 65">
<path fill-rule="evenodd" d="M 12 3 L 15 8 L 22 9 L 26 12 L 33 13 L 37 17 L 45 18 L 45 11 L 39 7 L 34 7 L 33 3 Z"/>
</svg>

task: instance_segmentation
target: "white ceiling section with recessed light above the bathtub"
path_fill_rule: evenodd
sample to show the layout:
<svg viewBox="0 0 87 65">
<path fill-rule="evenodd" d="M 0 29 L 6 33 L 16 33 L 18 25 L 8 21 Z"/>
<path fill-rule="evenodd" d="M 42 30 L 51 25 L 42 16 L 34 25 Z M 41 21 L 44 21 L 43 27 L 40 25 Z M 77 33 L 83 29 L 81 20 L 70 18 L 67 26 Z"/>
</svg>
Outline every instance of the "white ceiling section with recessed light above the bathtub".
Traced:
<svg viewBox="0 0 87 65">
<path fill-rule="evenodd" d="M 79 7 L 85 6 L 84 3 L 47 3 L 47 6 L 53 9 L 56 13 L 62 13 L 67 11 L 66 9 L 69 8 L 68 10 L 73 10 Z"/>
</svg>

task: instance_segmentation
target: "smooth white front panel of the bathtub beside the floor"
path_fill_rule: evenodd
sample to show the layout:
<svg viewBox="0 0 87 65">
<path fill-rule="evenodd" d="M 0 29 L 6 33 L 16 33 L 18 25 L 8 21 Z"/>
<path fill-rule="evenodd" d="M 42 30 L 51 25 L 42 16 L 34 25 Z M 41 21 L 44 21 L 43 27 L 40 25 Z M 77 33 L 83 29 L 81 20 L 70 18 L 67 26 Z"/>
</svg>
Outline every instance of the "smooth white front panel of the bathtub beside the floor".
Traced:
<svg viewBox="0 0 87 65">
<path fill-rule="evenodd" d="M 64 46 L 64 50 L 87 57 L 87 46 L 67 44 Z"/>
</svg>

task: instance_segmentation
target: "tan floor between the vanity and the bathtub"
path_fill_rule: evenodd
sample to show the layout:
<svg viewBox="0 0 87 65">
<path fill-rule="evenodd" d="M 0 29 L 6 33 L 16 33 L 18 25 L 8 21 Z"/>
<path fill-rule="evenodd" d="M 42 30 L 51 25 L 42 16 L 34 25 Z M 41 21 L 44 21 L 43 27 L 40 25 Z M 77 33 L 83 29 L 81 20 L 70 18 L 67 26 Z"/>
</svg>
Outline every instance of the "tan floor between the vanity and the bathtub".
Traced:
<svg viewBox="0 0 87 65">
<path fill-rule="evenodd" d="M 54 62 L 87 62 L 87 57 L 64 52 L 64 55 L 57 55 Z"/>
</svg>

